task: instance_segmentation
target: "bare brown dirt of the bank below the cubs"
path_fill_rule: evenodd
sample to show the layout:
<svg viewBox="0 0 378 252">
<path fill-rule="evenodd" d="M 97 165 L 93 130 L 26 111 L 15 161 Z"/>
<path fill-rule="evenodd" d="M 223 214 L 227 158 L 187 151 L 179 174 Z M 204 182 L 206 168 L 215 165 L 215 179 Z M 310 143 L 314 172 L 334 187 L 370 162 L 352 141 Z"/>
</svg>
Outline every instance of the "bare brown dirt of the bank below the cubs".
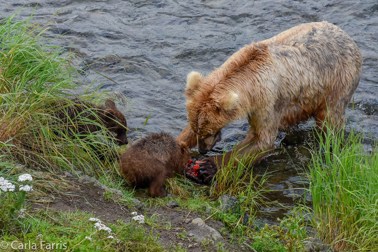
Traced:
<svg viewBox="0 0 378 252">
<path fill-rule="evenodd" d="M 131 215 L 131 212 L 133 212 L 132 210 L 129 210 L 127 207 L 122 206 L 121 204 L 114 203 L 113 201 L 106 202 L 103 191 L 101 190 L 92 189 L 90 187 L 78 184 L 75 179 L 70 179 L 70 182 L 75 188 L 75 191 L 68 193 L 70 196 L 62 193 L 59 195 L 57 193 L 53 193 L 50 195 L 51 198 L 53 198 L 53 202 L 48 202 L 45 204 L 32 204 L 32 208 L 34 210 L 39 210 L 47 207 L 55 210 L 62 210 L 63 212 L 74 212 L 76 209 L 79 209 L 83 212 L 93 212 L 96 218 L 99 218 L 104 223 L 116 224 L 117 220 L 130 222 L 131 218 L 133 217 L 133 215 Z M 174 199 L 172 199 L 172 201 L 174 201 Z M 158 226 L 157 228 L 150 227 L 147 224 L 143 224 L 143 226 L 147 230 L 152 231 L 154 235 L 159 234 L 160 244 L 163 244 L 164 247 L 168 248 L 171 246 L 171 244 L 173 244 L 173 246 L 180 244 L 181 247 L 184 247 L 187 249 L 187 251 L 191 252 L 201 252 L 206 250 L 200 241 L 194 241 L 192 237 L 179 238 L 178 235 L 185 231 L 186 226 L 191 223 L 193 219 L 198 217 L 206 219 L 207 216 L 200 216 L 200 214 L 193 213 L 188 209 L 182 209 L 180 206 L 174 209 L 165 206 L 158 208 L 143 208 L 137 210 L 137 212 L 146 215 L 146 217 L 149 217 L 155 213 L 157 214 L 157 219 L 155 221 L 155 224 Z M 170 228 L 167 228 L 167 225 L 169 227 L 169 223 L 171 226 Z M 211 219 L 206 221 L 206 225 L 218 231 L 224 227 L 222 222 Z M 225 238 L 226 241 L 228 240 L 228 237 L 223 236 L 223 238 Z M 228 243 L 225 243 L 224 248 L 229 249 L 229 251 L 240 251 L 240 249 L 245 249 L 243 246 L 236 247 L 235 245 L 230 245 Z M 218 250 L 215 246 L 210 246 L 206 251 Z"/>
</svg>

